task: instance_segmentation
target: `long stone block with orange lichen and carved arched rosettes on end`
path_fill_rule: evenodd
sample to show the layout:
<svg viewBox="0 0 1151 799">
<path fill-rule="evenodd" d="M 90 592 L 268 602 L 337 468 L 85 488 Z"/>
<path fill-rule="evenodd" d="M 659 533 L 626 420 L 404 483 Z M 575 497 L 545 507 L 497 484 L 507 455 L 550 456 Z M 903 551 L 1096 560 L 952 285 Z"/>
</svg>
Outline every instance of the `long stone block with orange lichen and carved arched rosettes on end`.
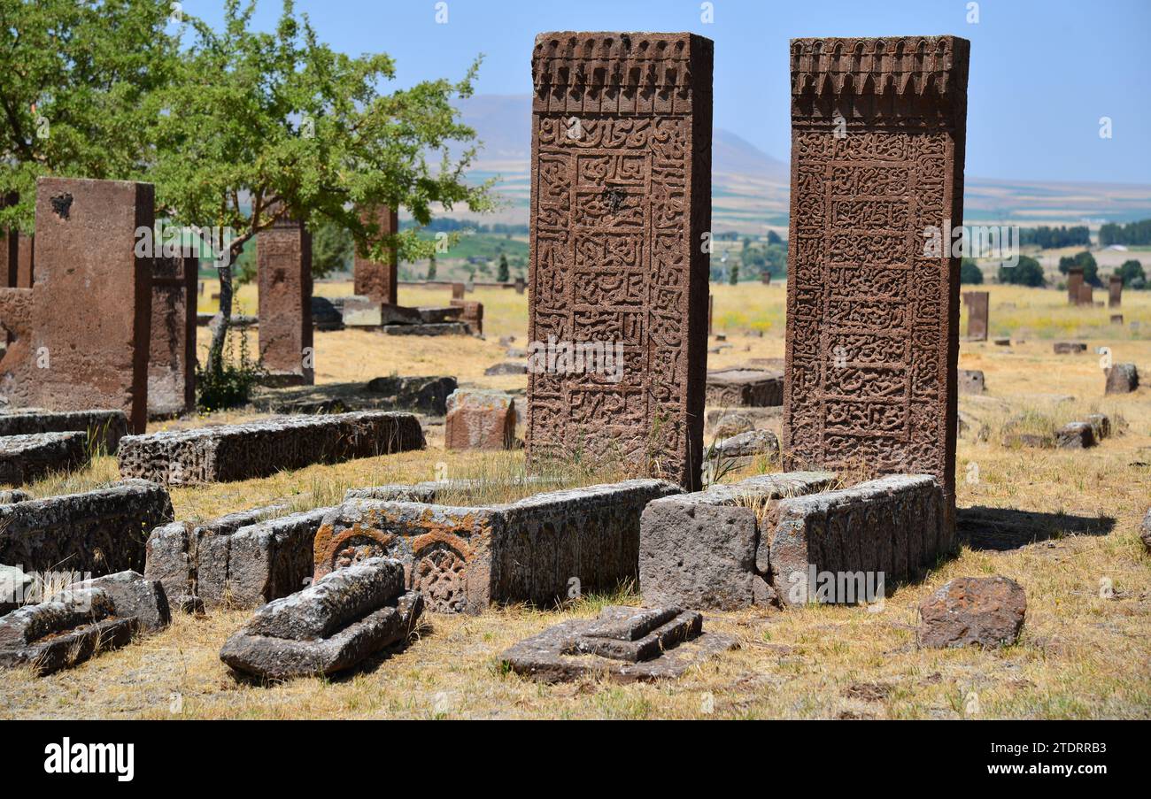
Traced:
<svg viewBox="0 0 1151 799">
<path fill-rule="evenodd" d="M 433 610 L 548 606 L 635 579 L 643 506 L 677 492 L 664 481 L 635 479 L 510 505 L 349 500 L 315 536 L 315 577 L 388 556 L 404 563 L 407 587 L 424 593 Z"/>
</svg>

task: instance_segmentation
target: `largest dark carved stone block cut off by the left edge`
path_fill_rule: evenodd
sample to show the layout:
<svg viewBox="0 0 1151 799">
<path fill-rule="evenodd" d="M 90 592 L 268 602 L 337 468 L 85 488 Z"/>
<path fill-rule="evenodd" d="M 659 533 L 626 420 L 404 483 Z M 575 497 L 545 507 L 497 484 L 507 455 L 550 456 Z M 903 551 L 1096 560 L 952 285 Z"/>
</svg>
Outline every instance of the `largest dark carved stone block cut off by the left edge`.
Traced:
<svg viewBox="0 0 1151 799">
<path fill-rule="evenodd" d="M 0 505 L 0 563 L 25 571 L 143 570 L 148 532 L 171 521 L 163 486 L 124 481 L 81 494 Z"/>
</svg>

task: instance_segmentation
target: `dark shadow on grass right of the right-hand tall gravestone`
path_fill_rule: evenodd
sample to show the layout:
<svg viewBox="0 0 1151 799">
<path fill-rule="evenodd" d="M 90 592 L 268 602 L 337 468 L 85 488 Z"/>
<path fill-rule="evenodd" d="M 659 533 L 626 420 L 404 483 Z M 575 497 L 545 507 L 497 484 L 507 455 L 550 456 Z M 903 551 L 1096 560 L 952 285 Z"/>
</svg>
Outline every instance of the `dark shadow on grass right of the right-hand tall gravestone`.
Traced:
<svg viewBox="0 0 1151 799">
<path fill-rule="evenodd" d="M 1106 536 L 1115 527 L 1108 516 L 1069 516 L 1015 508 L 959 508 L 960 540 L 973 550 L 1004 552 L 1064 536 Z"/>
</svg>

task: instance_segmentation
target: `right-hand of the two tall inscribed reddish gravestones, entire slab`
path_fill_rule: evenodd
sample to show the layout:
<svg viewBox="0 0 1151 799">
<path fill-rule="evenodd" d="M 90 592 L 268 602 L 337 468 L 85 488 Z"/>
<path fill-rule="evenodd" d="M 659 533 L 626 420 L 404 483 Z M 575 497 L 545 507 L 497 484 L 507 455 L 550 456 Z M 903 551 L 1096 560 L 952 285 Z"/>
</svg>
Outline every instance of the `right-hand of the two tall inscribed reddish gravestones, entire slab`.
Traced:
<svg viewBox="0 0 1151 799">
<path fill-rule="evenodd" d="M 968 53 L 791 43 L 785 464 L 933 475 L 951 508 Z"/>
</svg>

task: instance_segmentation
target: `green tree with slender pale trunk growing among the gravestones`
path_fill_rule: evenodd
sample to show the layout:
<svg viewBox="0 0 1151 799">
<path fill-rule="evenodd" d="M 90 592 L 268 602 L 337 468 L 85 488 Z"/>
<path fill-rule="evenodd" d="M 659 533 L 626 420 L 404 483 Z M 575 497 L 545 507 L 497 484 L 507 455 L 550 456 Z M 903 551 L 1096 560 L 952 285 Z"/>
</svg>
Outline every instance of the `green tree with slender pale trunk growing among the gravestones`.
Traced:
<svg viewBox="0 0 1151 799">
<path fill-rule="evenodd" d="M 328 220 L 349 231 L 357 251 L 382 261 L 395 247 L 407 261 L 435 243 L 420 239 L 432 206 L 493 207 L 493 182 L 470 185 L 475 132 L 458 121 L 452 101 L 472 93 L 477 60 L 456 83 L 426 80 L 391 94 L 378 85 L 395 77 L 384 54 L 352 57 L 317 40 L 291 0 L 274 33 L 250 30 L 252 0 L 226 0 L 221 31 L 190 17 L 195 43 L 175 80 L 150 100 L 159 120 L 151 176 L 157 203 L 176 222 L 218 231 L 218 247 L 237 256 L 261 230 L 282 218 L 310 226 Z M 468 145 L 457 158 L 451 143 Z M 433 169 L 429 156 L 440 154 Z M 416 225 L 384 236 L 375 214 L 406 208 Z M 230 262 L 218 264 L 220 313 L 212 321 L 205 372 L 222 374 L 231 315 Z"/>
</svg>

